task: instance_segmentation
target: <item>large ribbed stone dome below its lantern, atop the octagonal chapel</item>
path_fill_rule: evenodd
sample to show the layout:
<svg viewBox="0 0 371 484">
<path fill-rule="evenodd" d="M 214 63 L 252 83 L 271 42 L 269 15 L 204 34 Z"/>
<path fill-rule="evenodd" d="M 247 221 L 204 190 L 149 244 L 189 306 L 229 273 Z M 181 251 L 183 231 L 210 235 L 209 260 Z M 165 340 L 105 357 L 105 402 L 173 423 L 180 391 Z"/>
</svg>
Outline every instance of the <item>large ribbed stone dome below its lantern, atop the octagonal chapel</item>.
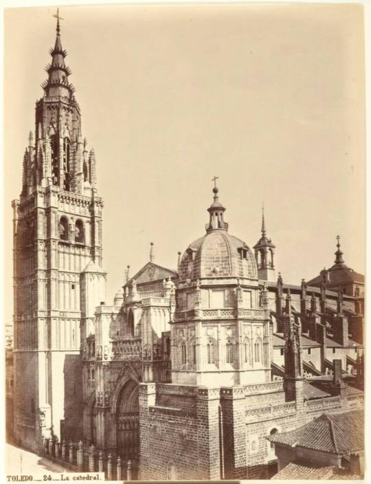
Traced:
<svg viewBox="0 0 371 484">
<path fill-rule="evenodd" d="M 257 277 L 256 262 L 245 242 L 226 230 L 212 230 L 192 242 L 181 258 L 181 281 L 210 277 Z"/>
</svg>

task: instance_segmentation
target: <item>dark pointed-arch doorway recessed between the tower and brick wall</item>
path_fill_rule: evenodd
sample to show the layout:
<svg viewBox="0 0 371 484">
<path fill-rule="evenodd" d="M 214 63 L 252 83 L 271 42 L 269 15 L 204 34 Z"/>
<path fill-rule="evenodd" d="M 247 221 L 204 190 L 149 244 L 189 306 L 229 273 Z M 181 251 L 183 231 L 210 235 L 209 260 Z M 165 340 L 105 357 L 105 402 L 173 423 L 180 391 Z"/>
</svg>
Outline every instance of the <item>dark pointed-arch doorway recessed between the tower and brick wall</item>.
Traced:
<svg viewBox="0 0 371 484">
<path fill-rule="evenodd" d="M 117 400 L 117 453 L 124 461 L 131 461 L 133 470 L 139 461 L 139 386 L 128 380 Z"/>
</svg>

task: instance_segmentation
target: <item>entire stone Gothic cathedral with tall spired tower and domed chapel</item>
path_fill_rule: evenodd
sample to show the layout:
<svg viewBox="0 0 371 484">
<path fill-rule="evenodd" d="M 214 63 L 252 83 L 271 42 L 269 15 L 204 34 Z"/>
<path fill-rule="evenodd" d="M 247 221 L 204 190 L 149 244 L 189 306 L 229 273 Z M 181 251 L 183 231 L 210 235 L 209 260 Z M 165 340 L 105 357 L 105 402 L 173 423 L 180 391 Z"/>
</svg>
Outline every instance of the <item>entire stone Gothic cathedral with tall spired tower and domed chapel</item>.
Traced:
<svg viewBox="0 0 371 484">
<path fill-rule="evenodd" d="M 338 237 L 328 270 L 284 282 L 264 213 L 251 249 L 215 178 L 177 269 L 150 243 L 106 303 L 95 153 L 59 19 L 50 55 L 12 202 L 15 439 L 55 459 L 69 445 L 71 468 L 98 461 L 112 478 L 121 465 L 142 480 L 273 476 L 270 436 L 363 408 L 363 275 Z"/>
</svg>

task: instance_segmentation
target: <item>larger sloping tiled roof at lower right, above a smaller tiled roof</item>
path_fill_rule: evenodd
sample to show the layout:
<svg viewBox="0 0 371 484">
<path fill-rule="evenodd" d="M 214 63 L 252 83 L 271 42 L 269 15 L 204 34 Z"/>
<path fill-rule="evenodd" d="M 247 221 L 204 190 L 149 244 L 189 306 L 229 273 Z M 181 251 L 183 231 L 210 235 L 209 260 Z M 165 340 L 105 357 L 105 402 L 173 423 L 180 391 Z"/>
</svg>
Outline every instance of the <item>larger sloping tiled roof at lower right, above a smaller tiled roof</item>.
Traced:
<svg viewBox="0 0 371 484">
<path fill-rule="evenodd" d="M 348 454 L 364 448 L 363 410 L 352 410 L 337 414 L 322 414 L 321 417 L 306 425 L 270 435 L 267 439 L 273 443 L 297 446 L 330 452 L 330 454 Z"/>
</svg>

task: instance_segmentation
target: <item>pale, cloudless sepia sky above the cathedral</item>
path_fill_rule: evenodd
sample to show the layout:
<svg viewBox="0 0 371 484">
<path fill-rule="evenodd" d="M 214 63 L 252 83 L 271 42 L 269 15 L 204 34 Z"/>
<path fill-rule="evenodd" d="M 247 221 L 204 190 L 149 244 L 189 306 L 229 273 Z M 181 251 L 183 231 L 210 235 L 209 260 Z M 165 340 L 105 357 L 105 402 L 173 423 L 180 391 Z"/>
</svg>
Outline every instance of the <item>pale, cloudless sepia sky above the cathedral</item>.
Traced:
<svg viewBox="0 0 371 484">
<path fill-rule="evenodd" d="M 55 8 L 5 10 L 3 234 L 12 318 L 12 209 L 54 45 Z M 212 178 L 229 233 L 249 247 L 264 202 L 287 283 L 335 259 L 365 269 L 361 5 L 61 8 L 61 39 L 97 157 L 106 303 L 149 260 L 205 233 Z"/>
</svg>

